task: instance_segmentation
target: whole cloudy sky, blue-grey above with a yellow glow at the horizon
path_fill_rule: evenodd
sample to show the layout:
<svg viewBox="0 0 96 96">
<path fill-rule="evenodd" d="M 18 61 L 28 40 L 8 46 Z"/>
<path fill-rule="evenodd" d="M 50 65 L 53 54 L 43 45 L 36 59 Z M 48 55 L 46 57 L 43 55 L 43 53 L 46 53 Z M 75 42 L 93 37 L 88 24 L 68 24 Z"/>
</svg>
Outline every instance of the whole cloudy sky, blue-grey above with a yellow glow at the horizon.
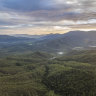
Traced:
<svg viewBox="0 0 96 96">
<path fill-rule="evenodd" d="M 96 0 L 0 0 L 0 34 L 96 30 Z"/>
</svg>

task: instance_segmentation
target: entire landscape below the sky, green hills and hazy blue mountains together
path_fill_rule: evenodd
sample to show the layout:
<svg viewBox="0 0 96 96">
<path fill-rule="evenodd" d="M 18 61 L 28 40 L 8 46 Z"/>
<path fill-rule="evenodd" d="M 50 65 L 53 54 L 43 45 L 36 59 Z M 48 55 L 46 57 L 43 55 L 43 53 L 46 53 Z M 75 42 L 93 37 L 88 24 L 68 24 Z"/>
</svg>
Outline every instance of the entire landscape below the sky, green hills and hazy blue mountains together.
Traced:
<svg viewBox="0 0 96 96">
<path fill-rule="evenodd" d="M 1 35 L 0 96 L 96 96 L 96 35 L 81 33 Z"/>
</svg>

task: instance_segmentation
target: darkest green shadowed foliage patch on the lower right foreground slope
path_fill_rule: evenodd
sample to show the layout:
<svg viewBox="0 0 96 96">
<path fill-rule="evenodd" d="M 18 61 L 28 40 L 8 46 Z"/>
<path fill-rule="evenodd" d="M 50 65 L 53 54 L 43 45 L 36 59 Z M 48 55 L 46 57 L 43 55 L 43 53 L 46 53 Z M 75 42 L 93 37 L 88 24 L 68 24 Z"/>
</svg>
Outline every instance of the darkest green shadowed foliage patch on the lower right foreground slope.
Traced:
<svg viewBox="0 0 96 96">
<path fill-rule="evenodd" d="M 87 96 L 94 91 L 96 87 L 96 78 L 94 73 L 82 70 L 61 71 L 55 75 L 48 76 L 45 84 L 55 92 L 65 96 Z"/>
</svg>

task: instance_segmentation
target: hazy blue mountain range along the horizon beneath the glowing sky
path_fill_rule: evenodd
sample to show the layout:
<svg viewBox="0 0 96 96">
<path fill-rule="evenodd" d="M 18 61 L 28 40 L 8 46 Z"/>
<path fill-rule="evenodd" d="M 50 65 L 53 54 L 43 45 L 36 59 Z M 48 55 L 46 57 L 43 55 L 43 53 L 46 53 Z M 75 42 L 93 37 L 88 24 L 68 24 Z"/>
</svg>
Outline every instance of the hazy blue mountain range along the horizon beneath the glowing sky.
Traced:
<svg viewBox="0 0 96 96">
<path fill-rule="evenodd" d="M 0 35 L 0 50 L 8 52 L 47 51 L 52 53 L 96 47 L 96 31 L 71 31 L 66 34 L 40 35 L 30 38 L 23 35 Z M 29 37 L 28 37 L 29 36 Z"/>
</svg>

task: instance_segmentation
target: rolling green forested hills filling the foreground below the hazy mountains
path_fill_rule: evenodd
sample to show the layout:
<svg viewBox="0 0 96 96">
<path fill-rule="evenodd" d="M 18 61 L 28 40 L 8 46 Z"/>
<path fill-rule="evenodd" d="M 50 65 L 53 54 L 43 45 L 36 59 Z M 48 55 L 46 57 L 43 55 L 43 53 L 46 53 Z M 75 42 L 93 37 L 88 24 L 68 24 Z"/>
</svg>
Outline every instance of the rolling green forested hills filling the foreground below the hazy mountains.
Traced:
<svg viewBox="0 0 96 96">
<path fill-rule="evenodd" d="M 0 96 L 96 96 L 96 50 L 31 52 L 0 59 Z"/>
</svg>

